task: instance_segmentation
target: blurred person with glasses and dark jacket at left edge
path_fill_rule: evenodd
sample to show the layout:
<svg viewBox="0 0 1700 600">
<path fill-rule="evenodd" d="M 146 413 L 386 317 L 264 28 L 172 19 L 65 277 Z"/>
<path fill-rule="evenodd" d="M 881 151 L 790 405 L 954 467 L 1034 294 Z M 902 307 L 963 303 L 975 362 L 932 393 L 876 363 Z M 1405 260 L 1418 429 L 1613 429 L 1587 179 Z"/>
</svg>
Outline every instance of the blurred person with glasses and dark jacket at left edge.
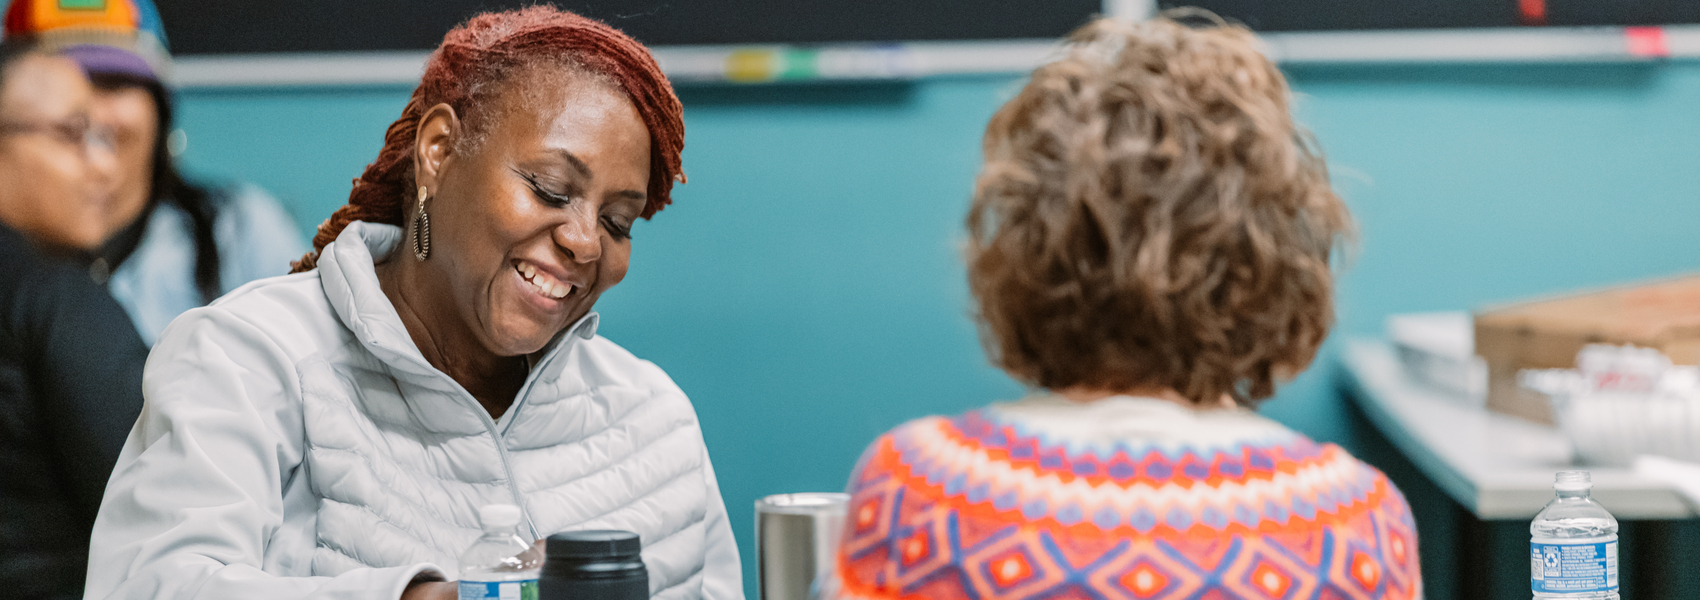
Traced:
<svg viewBox="0 0 1700 600">
<path fill-rule="evenodd" d="M 100 246 L 117 161 L 75 61 L 0 44 L 0 590 L 80 598 L 148 348 L 66 257 Z"/>
</svg>

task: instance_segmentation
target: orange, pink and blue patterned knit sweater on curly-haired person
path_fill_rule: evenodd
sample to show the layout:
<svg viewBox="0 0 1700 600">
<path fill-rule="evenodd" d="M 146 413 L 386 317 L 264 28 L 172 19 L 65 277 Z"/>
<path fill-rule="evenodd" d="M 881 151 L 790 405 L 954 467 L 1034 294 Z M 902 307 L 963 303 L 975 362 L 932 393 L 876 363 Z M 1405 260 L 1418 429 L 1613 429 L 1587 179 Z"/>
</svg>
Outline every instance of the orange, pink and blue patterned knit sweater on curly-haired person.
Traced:
<svg viewBox="0 0 1700 600">
<path fill-rule="evenodd" d="M 1392 483 L 1244 410 L 1034 398 L 882 435 L 840 598 L 1420 598 Z"/>
</svg>

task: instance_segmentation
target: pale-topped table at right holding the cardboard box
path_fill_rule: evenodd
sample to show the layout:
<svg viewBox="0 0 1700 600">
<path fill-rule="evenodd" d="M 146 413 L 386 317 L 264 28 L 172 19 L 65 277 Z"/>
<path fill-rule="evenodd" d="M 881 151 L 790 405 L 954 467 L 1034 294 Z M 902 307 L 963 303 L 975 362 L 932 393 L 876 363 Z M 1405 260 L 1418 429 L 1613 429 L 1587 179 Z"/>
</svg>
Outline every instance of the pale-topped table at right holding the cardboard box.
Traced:
<svg viewBox="0 0 1700 600">
<path fill-rule="evenodd" d="M 1674 488 L 1625 467 L 1576 464 L 1569 440 L 1552 427 L 1488 411 L 1481 405 L 1406 376 L 1386 340 L 1348 340 L 1341 355 L 1346 396 L 1391 445 L 1457 501 L 1454 564 L 1423 564 L 1457 576 L 1460 598 L 1508 598 L 1528 590 L 1522 561 L 1528 522 L 1552 500 L 1552 474 L 1586 469 L 1593 496 L 1624 522 L 1625 592 L 1637 600 L 1686 598 L 1693 580 L 1676 520 L 1700 515 Z M 1443 525 L 1445 527 L 1445 525 Z M 1692 527 L 1688 527 L 1692 529 Z M 1520 597 L 1525 597 L 1520 593 Z M 1627 595 L 1625 595 L 1627 598 Z"/>
</svg>

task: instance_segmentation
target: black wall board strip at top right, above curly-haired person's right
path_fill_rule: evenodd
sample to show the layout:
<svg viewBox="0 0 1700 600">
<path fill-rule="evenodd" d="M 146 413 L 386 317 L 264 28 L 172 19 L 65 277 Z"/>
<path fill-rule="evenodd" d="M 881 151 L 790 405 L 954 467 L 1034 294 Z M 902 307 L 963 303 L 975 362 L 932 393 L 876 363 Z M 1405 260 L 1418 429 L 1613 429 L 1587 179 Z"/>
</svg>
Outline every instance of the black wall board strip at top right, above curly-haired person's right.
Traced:
<svg viewBox="0 0 1700 600">
<path fill-rule="evenodd" d="M 1256 31 L 1586 27 L 1700 22 L 1700 0 L 1161 0 Z"/>
</svg>

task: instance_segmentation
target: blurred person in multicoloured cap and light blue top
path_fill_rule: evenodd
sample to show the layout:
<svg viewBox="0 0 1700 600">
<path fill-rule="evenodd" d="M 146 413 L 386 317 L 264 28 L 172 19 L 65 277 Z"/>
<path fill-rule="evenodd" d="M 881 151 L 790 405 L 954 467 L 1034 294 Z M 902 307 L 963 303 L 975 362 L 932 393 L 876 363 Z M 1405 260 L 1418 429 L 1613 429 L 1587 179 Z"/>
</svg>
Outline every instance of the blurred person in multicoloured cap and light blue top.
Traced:
<svg viewBox="0 0 1700 600">
<path fill-rule="evenodd" d="M 289 262 L 306 252 L 296 221 L 258 187 L 209 189 L 178 173 L 170 141 L 173 99 L 165 87 L 172 56 L 150 0 L 97 8 L 17 0 L 5 29 L 70 56 L 95 85 L 94 116 L 112 129 L 119 184 L 102 216 L 110 241 L 88 257 L 90 274 L 110 277 L 107 286 L 143 342 L 153 345 L 190 308 L 287 274 Z"/>
</svg>

